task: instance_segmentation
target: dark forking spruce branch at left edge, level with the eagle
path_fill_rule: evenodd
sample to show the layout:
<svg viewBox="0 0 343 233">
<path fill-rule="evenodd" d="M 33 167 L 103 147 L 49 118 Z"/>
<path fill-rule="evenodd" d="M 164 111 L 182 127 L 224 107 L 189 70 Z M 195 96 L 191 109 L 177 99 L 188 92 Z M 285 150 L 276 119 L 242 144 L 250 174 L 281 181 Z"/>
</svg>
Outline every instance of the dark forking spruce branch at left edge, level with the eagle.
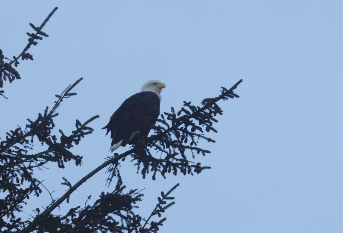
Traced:
<svg viewBox="0 0 343 233">
<path fill-rule="evenodd" d="M 51 134 L 55 127 L 53 118 L 58 115 L 56 113 L 57 108 L 64 98 L 72 96 L 70 90 L 81 80 L 82 78 L 69 85 L 61 95 L 58 95 L 58 100 L 55 101 L 55 105 L 50 111 L 47 107 L 43 114 L 38 114 L 35 121 L 28 119 L 29 124 L 24 130 L 18 126 L 14 131 L 8 132 L 6 139 L 0 142 L 1 176 L 3 180 L 7 181 L 0 182 L 0 191 L 8 193 L 2 199 L 3 205 L 0 205 L 1 217 L 11 217 L 11 220 L 14 221 L 14 212 L 22 211 L 21 204 L 25 204 L 25 199 L 28 199 L 32 193 L 39 196 L 42 192 L 39 187 L 43 185 L 42 182 L 33 177 L 34 168 L 42 169 L 47 162 L 56 162 L 60 168 L 64 168 L 64 163 L 72 159 L 75 160 L 76 165 L 81 164 L 82 157 L 73 155 L 68 149 L 78 145 L 81 138 L 93 132 L 93 128 L 87 125 L 99 116 L 93 116 L 83 124 L 76 120 L 80 124 L 76 130 L 71 135 L 64 135 L 60 130 L 62 136 L 59 141 L 56 135 Z M 28 151 L 33 149 L 32 143 L 36 137 L 42 145 L 46 144 L 48 149 L 30 155 Z M 26 187 L 26 183 L 28 183 L 28 187 Z M 51 196 L 50 192 L 49 194 Z M 14 196 L 15 199 L 13 199 Z"/>
</svg>

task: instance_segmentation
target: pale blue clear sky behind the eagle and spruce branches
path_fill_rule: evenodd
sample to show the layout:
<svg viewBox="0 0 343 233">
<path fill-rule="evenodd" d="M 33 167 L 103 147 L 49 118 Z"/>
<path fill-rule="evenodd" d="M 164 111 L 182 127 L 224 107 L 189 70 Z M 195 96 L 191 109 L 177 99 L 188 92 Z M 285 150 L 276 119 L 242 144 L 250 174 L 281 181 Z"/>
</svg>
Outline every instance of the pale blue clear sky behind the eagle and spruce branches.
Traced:
<svg viewBox="0 0 343 233">
<path fill-rule="evenodd" d="M 148 217 L 159 193 L 180 183 L 161 232 L 343 231 L 341 1 L 3 1 L 5 56 L 19 55 L 29 23 L 40 25 L 56 6 L 49 37 L 29 50 L 34 61 L 21 62 L 22 79 L 5 85 L 9 100 L 0 100 L 4 137 L 84 77 L 56 125 L 71 132 L 75 119 L 100 118 L 73 149 L 84 157 L 81 167 L 38 171 L 55 198 L 66 189 L 62 176 L 75 183 L 110 155 L 101 128 L 146 81 L 166 84 L 164 112 L 243 79 L 241 97 L 220 103 L 224 115 L 210 135 L 216 143 L 202 144 L 212 153 L 197 158 L 211 170 L 152 181 L 122 163 L 123 181 L 145 188 L 137 211 Z M 105 179 L 94 176 L 55 214 L 114 188 Z M 26 214 L 49 197 L 35 201 Z"/>
</svg>

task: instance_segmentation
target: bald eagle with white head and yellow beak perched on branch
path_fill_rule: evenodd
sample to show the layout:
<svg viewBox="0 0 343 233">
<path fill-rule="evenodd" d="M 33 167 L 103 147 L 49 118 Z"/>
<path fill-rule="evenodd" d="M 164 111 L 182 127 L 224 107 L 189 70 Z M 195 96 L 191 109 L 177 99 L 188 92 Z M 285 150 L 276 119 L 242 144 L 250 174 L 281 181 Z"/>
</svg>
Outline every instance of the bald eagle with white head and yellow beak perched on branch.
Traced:
<svg viewBox="0 0 343 233">
<path fill-rule="evenodd" d="M 106 135 L 111 132 L 111 152 L 119 146 L 137 143 L 138 135 L 149 134 L 158 118 L 161 90 L 165 87 L 164 83 L 150 80 L 142 86 L 141 92 L 127 98 L 113 113 L 102 128 L 107 129 Z"/>
</svg>

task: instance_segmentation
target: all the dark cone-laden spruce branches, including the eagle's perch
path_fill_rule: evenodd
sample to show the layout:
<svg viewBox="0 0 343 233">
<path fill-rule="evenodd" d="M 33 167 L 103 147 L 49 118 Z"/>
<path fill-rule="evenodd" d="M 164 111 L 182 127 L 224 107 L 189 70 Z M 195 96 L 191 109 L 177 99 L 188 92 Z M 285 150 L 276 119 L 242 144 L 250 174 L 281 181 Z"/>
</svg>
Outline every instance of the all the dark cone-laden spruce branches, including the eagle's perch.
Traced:
<svg viewBox="0 0 343 233">
<path fill-rule="evenodd" d="M 33 60 L 27 50 L 32 45 L 37 45 L 37 40 L 48 37 L 42 29 L 56 10 L 57 7 L 39 27 L 30 23 L 35 32 L 27 33 L 29 42 L 19 56 L 13 56 L 13 60 L 10 60 L 4 57 L 0 50 L 0 88 L 3 88 L 5 81 L 11 83 L 21 78 L 12 65 L 17 67 L 20 58 Z M 242 82 L 240 80 L 230 89 L 222 87 L 220 95 L 204 99 L 201 106 L 191 105 L 191 102 L 185 101 L 181 110 L 175 111 L 171 108 L 170 112 L 161 114 L 161 119 L 158 119 L 154 127 L 154 135 L 142 138 L 139 143 L 120 155 L 115 153 L 74 185 L 63 177 L 62 185 L 66 185 L 68 191 L 58 199 L 52 198 L 48 191 L 52 200 L 43 204 L 46 208 L 36 208 L 32 218 L 21 219 L 17 216 L 23 210 L 23 205 L 30 197 L 39 197 L 42 187 L 44 188 L 43 183 L 34 176 L 37 169 L 44 168 L 47 163 L 55 163 L 61 169 L 64 168 L 64 163 L 70 161 L 75 162 L 76 166 L 81 165 L 82 156 L 74 155 L 72 147 L 77 146 L 82 138 L 94 131 L 88 125 L 99 116 L 93 116 L 84 123 L 76 120 L 75 129 L 68 134 L 62 130 L 57 132 L 54 123 L 54 118 L 58 116 L 57 108 L 63 100 L 76 95 L 71 91 L 81 80 L 82 78 L 69 85 L 60 95 L 56 95 L 57 100 L 51 109 L 46 107 L 43 113 L 38 113 L 35 120 L 27 119 L 25 127 L 16 127 L 6 133 L 5 139 L 0 140 L 1 232 L 157 232 L 166 220 L 160 219 L 162 214 L 174 205 L 174 201 L 171 201 L 174 197 L 170 194 L 179 184 L 166 193 L 161 192 L 161 197 L 157 198 L 158 203 L 150 216 L 147 219 L 142 218 L 134 209 L 138 208 L 143 194 L 137 189 L 124 191 L 126 186 L 119 172 L 120 161 L 131 157 L 131 161 L 137 166 L 137 173 L 140 172 L 144 179 L 151 172 L 153 180 L 156 179 L 156 175 L 164 178 L 168 173 L 193 175 L 209 169 L 210 167 L 202 166 L 195 161 L 198 155 L 205 156 L 210 153 L 201 147 L 199 140 L 215 142 L 205 134 L 210 131 L 217 132 L 213 127 L 213 123 L 218 122 L 215 116 L 223 114 L 217 102 L 238 98 L 234 90 Z M 0 95 L 5 97 L 3 90 L 0 90 Z M 32 153 L 34 140 L 38 140 L 45 149 L 39 153 Z M 71 208 L 64 216 L 52 213 L 63 201 L 69 202 L 69 196 L 76 188 L 104 168 L 107 168 L 109 174 L 108 185 L 114 177 L 117 178 L 113 192 L 102 192 L 99 199 L 89 205 L 87 202 L 91 197 L 88 196 L 84 207 Z M 42 202 L 45 203 L 44 200 Z M 156 218 L 156 221 L 151 220 L 152 218 Z"/>
</svg>

